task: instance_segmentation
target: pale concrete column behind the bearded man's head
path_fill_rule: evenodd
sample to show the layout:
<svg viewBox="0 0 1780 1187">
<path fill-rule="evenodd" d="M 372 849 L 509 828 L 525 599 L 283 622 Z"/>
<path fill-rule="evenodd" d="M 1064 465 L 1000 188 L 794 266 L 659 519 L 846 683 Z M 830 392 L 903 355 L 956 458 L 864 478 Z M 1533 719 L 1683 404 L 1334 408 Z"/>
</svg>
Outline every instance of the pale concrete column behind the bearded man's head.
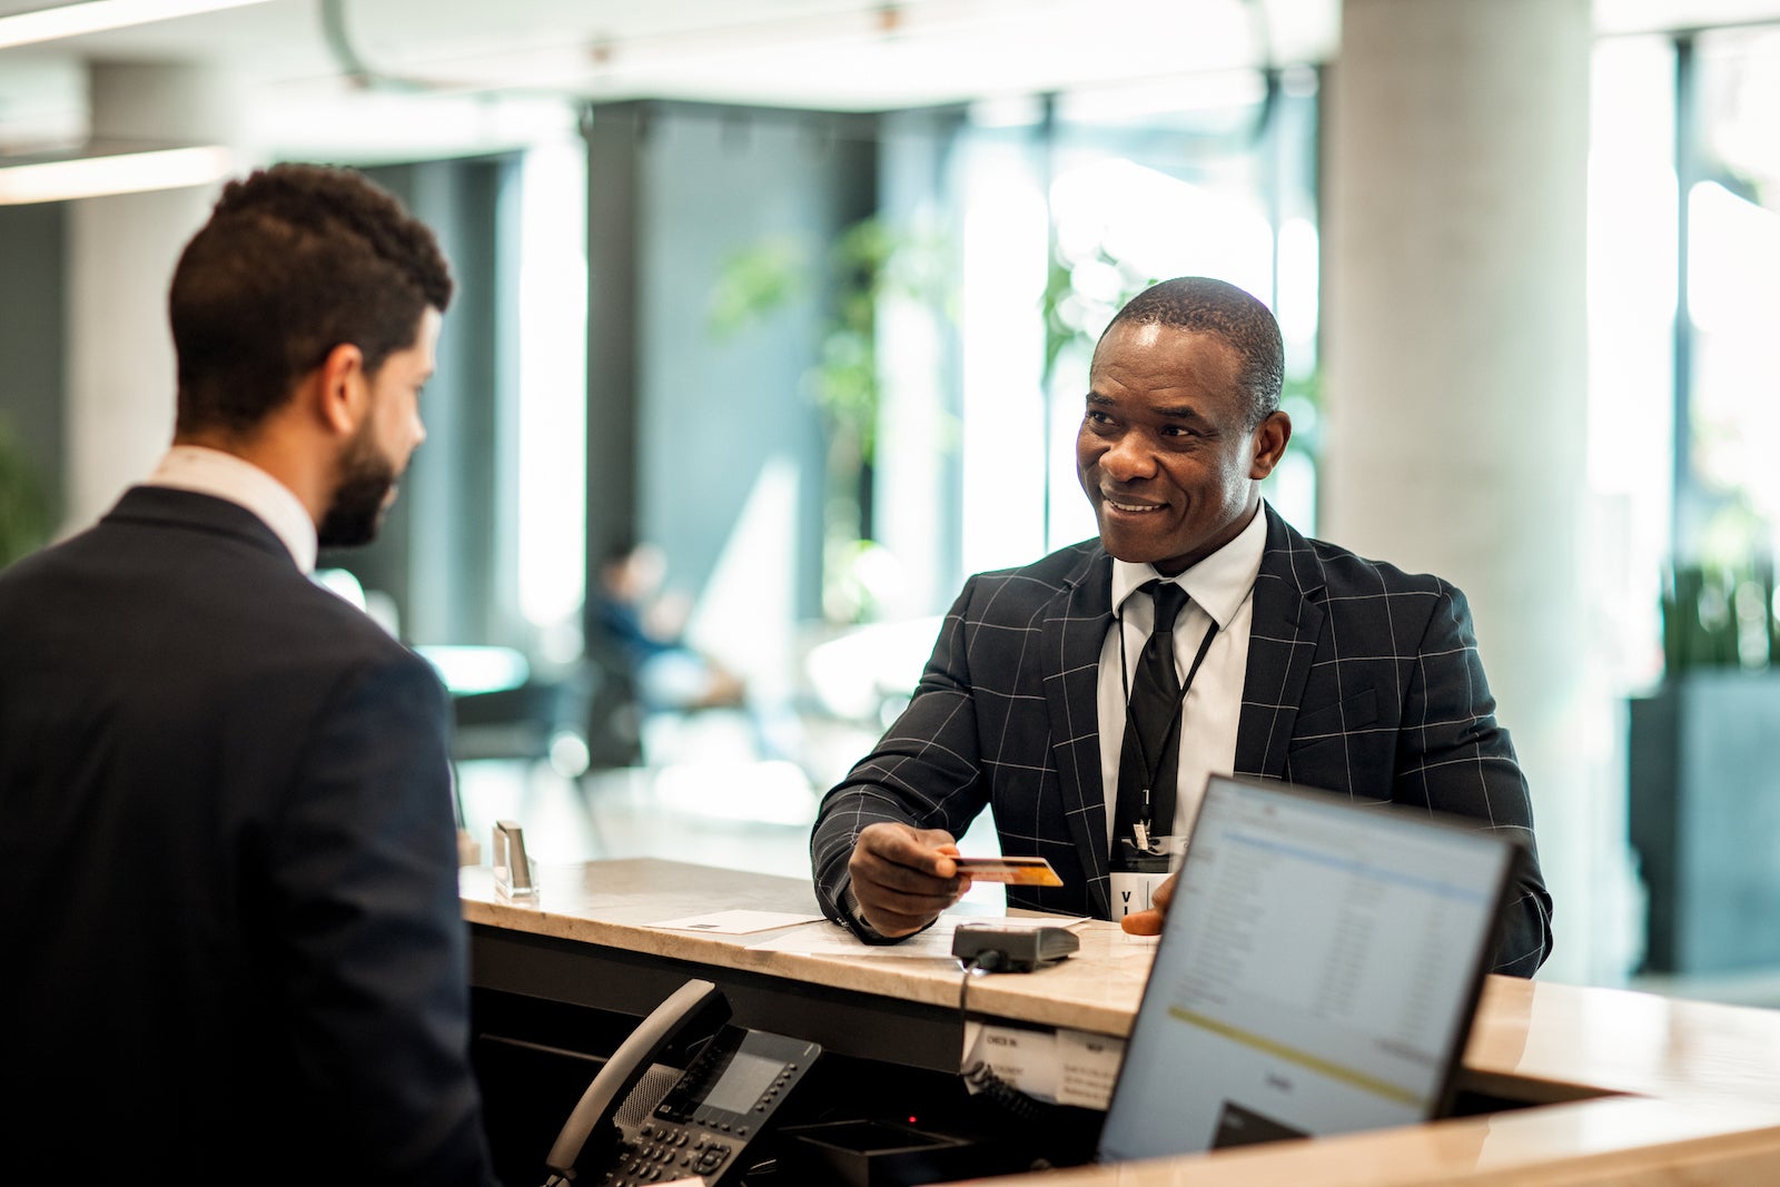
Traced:
<svg viewBox="0 0 1780 1187">
<path fill-rule="evenodd" d="M 94 62 L 89 84 L 103 151 L 235 142 L 240 103 L 221 73 Z M 64 530 L 103 514 L 173 438 L 167 283 L 215 198 L 205 185 L 69 203 Z"/>
</svg>

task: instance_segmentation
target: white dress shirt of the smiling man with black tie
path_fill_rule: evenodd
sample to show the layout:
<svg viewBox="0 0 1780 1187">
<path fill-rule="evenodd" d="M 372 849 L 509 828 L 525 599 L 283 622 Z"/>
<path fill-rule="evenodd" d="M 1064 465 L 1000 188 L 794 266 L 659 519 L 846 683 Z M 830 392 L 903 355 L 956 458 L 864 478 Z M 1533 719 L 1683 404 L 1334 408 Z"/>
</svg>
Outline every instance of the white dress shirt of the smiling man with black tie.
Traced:
<svg viewBox="0 0 1780 1187">
<path fill-rule="evenodd" d="M 1112 626 L 1100 646 L 1100 781 L 1107 803 L 1107 836 L 1118 808 L 1118 758 L 1125 742 L 1127 689 L 1136 678 L 1137 657 L 1150 637 L 1155 602 L 1137 594 L 1148 580 L 1173 580 L 1187 591 L 1187 605 L 1175 619 L 1175 671 L 1185 682 L 1205 632 L 1218 623 L 1218 637 L 1193 678 L 1180 707 L 1180 781 L 1175 792 L 1171 847 L 1180 847 L 1200 812 L 1205 779 L 1235 771 L 1235 730 L 1242 715 L 1242 680 L 1248 674 L 1248 634 L 1255 621 L 1255 578 L 1267 548 L 1267 513 L 1257 509 L 1248 527 L 1228 545 L 1177 577 L 1162 577 L 1152 564 L 1112 561 Z M 1120 623 L 1125 628 L 1120 655 Z"/>
</svg>

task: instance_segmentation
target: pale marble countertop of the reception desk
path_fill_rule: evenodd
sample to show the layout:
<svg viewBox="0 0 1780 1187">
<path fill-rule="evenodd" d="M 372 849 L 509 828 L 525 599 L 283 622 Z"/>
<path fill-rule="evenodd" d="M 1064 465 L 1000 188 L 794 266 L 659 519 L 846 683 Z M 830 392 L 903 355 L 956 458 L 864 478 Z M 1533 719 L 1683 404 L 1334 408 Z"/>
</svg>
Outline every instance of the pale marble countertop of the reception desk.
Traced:
<svg viewBox="0 0 1780 1187">
<path fill-rule="evenodd" d="M 509 900 L 491 872 L 461 874 L 465 918 L 513 931 L 771 973 L 934 1005 L 956 1005 L 951 957 L 751 950 L 787 931 L 846 933 L 824 922 L 721 936 L 650 927 L 717 909 L 819 915 L 806 879 L 660 860 L 539 867 L 539 895 Z M 1125 1036 L 1153 941 L 1089 920 L 1080 952 L 1024 975 L 979 977 L 972 1011 Z M 1650 993 L 1488 977 L 1461 1082 L 1543 1103 L 1479 1118 L 1280 1143 L 1193 1159 L 1045 1175 L 1050 1187 L 1162 1187 L 1191 1182 L 1725 1183 L 1780 1182 L 1780 1011 Z M 995 1180 L 1007 1183 L 1013 1180 Z"/>
</svg>

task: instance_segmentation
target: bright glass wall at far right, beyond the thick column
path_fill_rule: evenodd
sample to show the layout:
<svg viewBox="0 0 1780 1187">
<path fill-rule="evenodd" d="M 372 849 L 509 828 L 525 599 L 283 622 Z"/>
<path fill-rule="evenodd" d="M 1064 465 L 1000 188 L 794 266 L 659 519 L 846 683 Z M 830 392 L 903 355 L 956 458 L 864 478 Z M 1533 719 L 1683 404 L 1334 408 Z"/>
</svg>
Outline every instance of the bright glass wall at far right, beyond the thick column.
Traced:
<svg viewBox="0 0 1780 1187">
<path fill-rule="evenodd" d="M 1780 30 L 1595 53 L 1590 441 L 1629 689 L 1766 667 L 1780 472 Z"/>
</svg>

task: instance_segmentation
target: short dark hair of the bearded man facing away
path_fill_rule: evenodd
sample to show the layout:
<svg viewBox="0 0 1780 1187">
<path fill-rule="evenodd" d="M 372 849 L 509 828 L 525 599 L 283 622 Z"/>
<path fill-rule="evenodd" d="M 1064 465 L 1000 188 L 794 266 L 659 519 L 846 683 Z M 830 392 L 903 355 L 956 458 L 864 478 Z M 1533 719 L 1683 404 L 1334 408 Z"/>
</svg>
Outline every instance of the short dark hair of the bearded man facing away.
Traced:
<svg viewBox="0 0 1780 1187">
<path fill-rule="evenodd" d="M 342 343 L 376 374 L 450 294 L 433 231 L 363 174 L 281 164 L 230 182 L 167 295 L 178 429 L 251 429 Z"/>
</svg>

